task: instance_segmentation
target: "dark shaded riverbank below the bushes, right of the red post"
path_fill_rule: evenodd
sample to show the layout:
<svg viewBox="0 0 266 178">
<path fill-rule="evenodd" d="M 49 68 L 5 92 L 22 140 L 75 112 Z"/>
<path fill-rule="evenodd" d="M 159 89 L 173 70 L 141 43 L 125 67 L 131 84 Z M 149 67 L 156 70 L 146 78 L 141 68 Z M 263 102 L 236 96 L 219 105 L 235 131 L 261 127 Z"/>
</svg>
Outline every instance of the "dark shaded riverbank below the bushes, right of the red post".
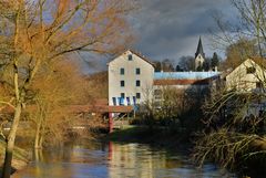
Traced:
<svg viewBox="0 0 266 178">
<path fill-rule="evenodd" d="M 106 135 L 105 139 L 119 143 L 149 144 L 153 147 L 187 151 L 192 148 L 190 134 L 167 127 L 127 126 Z"/>
</svg>

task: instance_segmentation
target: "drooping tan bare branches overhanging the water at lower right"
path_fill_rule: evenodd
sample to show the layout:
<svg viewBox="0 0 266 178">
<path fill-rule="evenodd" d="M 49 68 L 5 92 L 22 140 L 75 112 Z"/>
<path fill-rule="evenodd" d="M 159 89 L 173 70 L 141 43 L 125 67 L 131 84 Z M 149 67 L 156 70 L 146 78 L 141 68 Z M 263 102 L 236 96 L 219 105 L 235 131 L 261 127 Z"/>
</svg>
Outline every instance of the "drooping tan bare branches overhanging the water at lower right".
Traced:
<svg viewBox="0 0 266 178">
<path fill-rule="evenodd" d="M 222 128 L 202 135 L 194 147 L 193 159 L 200 166 L 211 160 L 223 167 L 235 168 L 241 160 L 252 158 L 257 154 L 265 154 L 265 138 Z"/>
</svg>

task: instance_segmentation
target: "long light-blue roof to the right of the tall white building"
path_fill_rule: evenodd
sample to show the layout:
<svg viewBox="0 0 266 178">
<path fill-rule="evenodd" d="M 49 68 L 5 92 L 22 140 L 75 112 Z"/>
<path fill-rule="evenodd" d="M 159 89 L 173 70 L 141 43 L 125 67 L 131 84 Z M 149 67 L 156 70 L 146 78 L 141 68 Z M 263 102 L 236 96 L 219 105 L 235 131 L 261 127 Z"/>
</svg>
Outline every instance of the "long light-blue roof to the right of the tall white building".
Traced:
<svg viewBox="0 0 266 178">
<path fill-rule="evenodd" d="M 154 80 L 204 80 L 217 77 L 221 72 L 155 72 Z"/>
</svg>

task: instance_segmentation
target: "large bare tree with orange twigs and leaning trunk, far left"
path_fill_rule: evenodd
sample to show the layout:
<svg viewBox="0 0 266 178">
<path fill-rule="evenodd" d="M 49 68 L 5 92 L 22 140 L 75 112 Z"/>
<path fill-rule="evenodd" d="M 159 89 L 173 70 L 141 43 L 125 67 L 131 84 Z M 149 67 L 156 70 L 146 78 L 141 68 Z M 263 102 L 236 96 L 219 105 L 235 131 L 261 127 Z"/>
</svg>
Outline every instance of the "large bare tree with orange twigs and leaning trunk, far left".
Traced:
<svg viewBox="0 0 266 178">
<path fill-rule="evenodd" d="M 2 103 L 14 109 L 2 177 L 10 177 L 16 133 L 30 87 L 43 64 L 76 52 L 114 53 L 129 39 L 125 14 L 132 1 L 1 0 L 1 78 L 11 92 Z M 11 102 L 9 102 L 11 101 Z"/>
</svg>

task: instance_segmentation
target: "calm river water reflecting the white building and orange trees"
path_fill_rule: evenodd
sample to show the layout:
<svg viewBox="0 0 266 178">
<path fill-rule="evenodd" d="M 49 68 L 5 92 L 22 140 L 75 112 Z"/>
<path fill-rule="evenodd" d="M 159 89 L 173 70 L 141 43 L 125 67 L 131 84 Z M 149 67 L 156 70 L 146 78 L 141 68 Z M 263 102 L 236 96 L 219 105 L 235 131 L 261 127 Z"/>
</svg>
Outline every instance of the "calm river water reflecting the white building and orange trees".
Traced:
<svg viewBox="0 0 266 178">
<path fill-rule="evenodd" d="M 214 165 L 196 169 L 188 157 L 143 144 L 69 144 L 34 154 L 13 178 L 231 178 Z"/>
</svg>

